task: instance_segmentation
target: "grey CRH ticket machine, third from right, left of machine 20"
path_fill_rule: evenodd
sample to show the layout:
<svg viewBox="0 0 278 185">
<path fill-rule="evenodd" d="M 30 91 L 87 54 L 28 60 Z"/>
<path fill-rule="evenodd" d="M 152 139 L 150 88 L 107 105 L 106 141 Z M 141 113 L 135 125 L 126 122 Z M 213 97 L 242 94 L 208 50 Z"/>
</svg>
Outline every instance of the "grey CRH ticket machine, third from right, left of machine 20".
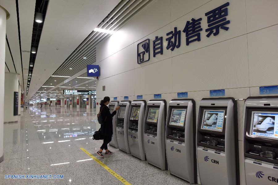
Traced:
<svg viewBox="0 0 278 185">
<path fill-rule="evenodd" d="M 166 154 L 170 173 L 197 182 L 195 101 L 170 101 L 166 126 Z"/>
</svg>

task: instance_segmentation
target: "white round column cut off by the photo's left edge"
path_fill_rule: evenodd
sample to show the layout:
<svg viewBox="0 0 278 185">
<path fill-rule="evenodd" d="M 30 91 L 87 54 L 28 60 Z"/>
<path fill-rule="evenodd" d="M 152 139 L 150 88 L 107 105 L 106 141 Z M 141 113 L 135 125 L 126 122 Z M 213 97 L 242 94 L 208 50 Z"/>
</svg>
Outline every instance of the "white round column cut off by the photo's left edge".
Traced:
<svg viewBox="0 0 278 185">
<path fill-rule="evenodd" d="M 10 14 L 0 6 L 0 162 L 4 160 L 4 84 L 5 84 L 5 47 L 6 47 L 6 19 Z"/>
</svg>

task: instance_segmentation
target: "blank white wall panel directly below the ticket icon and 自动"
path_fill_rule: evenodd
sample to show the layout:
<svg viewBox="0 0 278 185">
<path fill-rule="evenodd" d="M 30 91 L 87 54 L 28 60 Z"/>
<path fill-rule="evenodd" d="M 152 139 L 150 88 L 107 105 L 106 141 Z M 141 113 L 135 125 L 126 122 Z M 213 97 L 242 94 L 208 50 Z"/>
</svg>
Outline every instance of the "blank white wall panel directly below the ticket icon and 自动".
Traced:
<svg viewBox="0 0 278 185">
<path fill-rule="evenodd" d="M 166 59 L 135 69 L 135 94 L 141 95 L 172 92 L 171 65 L 171 59 Z"/>
</svg>

